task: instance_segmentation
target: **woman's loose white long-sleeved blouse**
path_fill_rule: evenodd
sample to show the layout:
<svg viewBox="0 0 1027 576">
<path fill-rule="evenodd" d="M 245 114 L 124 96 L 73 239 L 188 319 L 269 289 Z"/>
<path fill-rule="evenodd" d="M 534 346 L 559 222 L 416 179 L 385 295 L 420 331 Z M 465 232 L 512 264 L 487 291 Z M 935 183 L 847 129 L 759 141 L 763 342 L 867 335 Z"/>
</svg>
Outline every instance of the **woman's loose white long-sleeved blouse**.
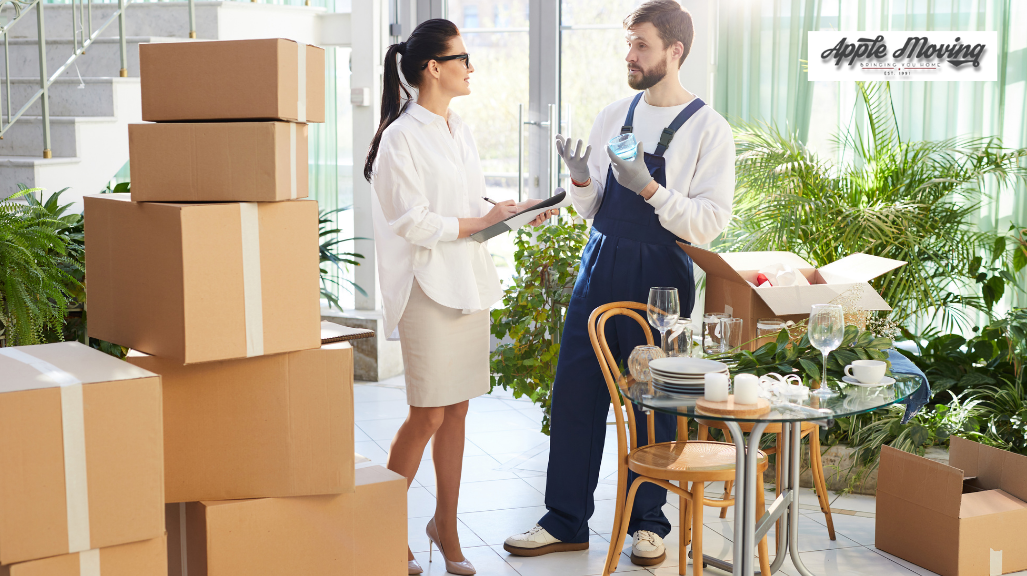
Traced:
<svg viewBox="0 0 1027 576">
<path fill-rule="evenodd" d="M 464 313 L 487 310 L 502 297 L 488 245 L 460 238 L 460 218 L 480 218 L 485 176 L 470 128 L 411 102 L 382 132 L 372 217 L 385 334 L 396 327 L 414 278 L 431 300 Z"/>
</svg>

